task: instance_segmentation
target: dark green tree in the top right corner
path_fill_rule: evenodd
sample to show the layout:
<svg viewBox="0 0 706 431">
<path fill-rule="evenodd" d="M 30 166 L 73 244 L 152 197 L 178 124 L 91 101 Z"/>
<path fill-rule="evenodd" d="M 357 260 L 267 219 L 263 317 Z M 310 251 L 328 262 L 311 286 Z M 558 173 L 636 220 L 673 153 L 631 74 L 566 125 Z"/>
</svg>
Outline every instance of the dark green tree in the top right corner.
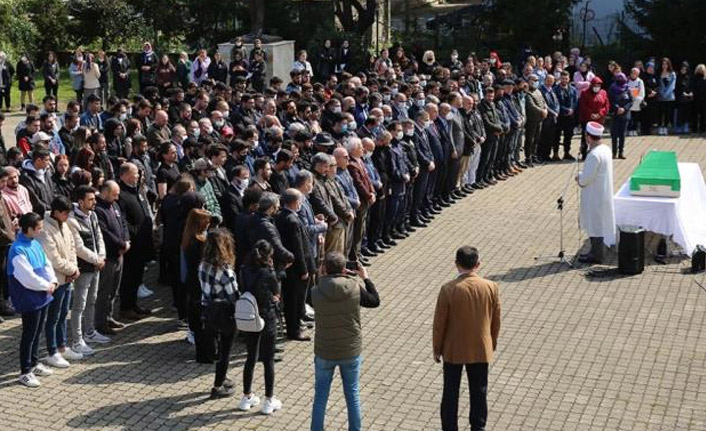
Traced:
<svg viewBox="0 0 706 431">
<path fill-rule="evenodd" d="M 642 56 L 669 56 L 672 60 L 700 61 L 706 52 L 706 8 L 703 0 L 629 0 L 623 40 Z"/>
</svg>

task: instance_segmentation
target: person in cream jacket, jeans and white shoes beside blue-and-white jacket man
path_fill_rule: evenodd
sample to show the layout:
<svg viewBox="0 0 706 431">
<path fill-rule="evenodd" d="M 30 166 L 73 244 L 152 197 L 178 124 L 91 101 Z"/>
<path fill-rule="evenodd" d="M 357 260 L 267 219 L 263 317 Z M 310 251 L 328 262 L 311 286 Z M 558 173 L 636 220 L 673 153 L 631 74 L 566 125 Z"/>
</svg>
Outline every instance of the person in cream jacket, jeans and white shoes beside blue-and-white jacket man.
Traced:
<svg viewBox="0 0 706 431">
<path fill-rule="evenodd" d="M 44 215 L 44 229 L 37 237 L 59 284 L 47 312 L 46 363 L 56 368 L 67 368 L 69 366 L 67 359 L 83 358 L 83 355 L 67 347 L 66 336 L 66 315 L 71 304 L 71 283 L 79 276 L 74 237 L 66 222 L 73 205 L 69 198 L 57 196 L 51 202 L 50 208 Z"/>
</svg>

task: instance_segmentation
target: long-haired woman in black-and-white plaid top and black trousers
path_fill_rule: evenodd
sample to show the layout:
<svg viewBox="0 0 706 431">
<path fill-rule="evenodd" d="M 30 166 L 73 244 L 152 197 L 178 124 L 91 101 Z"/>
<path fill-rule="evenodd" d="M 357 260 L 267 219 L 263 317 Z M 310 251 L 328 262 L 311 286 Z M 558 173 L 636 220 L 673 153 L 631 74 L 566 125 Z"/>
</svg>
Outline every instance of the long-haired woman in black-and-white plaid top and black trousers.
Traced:
<svg viewBox="0 0 706 431">
<path fill-rule="evenodd" d="M 216 229 L 206 237 L 203 259 L 199 265 L 205 324 L 215 334 L 218 343 L 212 399 L 233 396 L 233 383 L 226 379 L 226 372 L 235 335 L 235 301 L 239 296 L 234 268 L 233 236 L 224 228 Z"/>
</svg>

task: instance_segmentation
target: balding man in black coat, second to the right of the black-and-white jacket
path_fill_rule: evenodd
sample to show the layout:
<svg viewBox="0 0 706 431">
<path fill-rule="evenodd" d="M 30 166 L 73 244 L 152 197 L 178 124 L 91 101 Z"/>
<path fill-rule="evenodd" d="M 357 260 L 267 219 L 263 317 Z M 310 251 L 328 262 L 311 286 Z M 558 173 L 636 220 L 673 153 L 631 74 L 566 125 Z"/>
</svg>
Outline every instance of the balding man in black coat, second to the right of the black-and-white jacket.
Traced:
<svg viewBox="0 0 706 431">
<path fill-rule="evenodd" d="M 130 320 L 139 320 L 152 313 L 137 305 L 137 289 L 142 283 L 145 263 L 151 260 L 152 215 L 149 203 L 139 191 L 139 170 L 132 163 L 120 166 L 120 198 L 118 204 L 125 215 L 132 247 L 125 253 L 123 279 L 120 283 L 120 314 Z"/>
</svg>

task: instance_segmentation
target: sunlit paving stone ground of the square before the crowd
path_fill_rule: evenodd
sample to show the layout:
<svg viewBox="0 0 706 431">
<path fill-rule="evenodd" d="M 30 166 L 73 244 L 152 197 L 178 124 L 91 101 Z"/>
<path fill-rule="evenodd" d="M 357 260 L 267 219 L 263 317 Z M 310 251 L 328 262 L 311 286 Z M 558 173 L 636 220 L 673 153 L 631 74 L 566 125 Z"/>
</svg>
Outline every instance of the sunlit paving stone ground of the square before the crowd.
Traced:
<svg viewBox="0 0 706 431">
<path fill-rule="evenodd" d="M 701 136 L 629 138 L 616 161 L 616 189 L 648 149 L 676 150 L 706 166 Z M 689 262 L 651 260 L 645 272 L 618 276 L 615 257 L 597 277 L 538 255 L 558 252 L 555 201 L 573 165 L 531 169 L 447 209 L 426 229 L 376 258 L 370 270 L 382 305 L 363 311 L 360 382 L 365 430 L 438 430 L 441 366 L 432 360 L 431 327 L 440 285 L 455 275 L 462 244 L 481 252 L 481 273 L 500 282 L 502 329 L 490 368 L 489 430 L 706 429 L 706 291 Z M 577 190 L 566 200 L 566 248 L 576 229 Z M 284 409 L 271 417 L 237 411 L 237 398 L 209 401 L 213 367 L 193 361 L 176 329 L 169 289 L 149 301 L 156 314 L 99 347 L 95 357 L 42 378 L 16 382 L 19 320 L 0 325 L 0 423 L 16 430 L 306 430 L 313 398 L 313 345 L 286 344 L 276 366 Z M 244 345 L 236 343 L 229 376 L 241 389 Z M 263 391 L 262 370 L 255 390 Z M 459 423 L 467 423 L 468 394 Z M 336 379 L 327 429 L 345 430 Z"/>
</svg>

